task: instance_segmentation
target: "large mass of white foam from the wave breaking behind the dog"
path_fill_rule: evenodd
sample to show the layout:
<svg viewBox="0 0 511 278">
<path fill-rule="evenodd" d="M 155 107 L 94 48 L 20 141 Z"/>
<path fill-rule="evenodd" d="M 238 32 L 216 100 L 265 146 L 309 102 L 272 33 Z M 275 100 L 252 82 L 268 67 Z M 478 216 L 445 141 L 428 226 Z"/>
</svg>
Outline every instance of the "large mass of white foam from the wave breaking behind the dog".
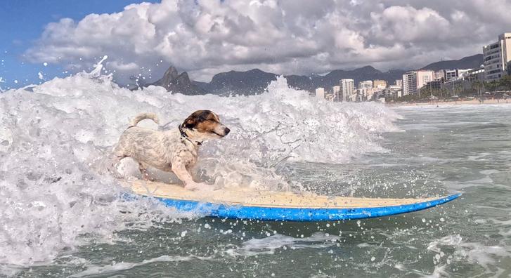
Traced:
<svg viewBox="0 0 511 278">
<path fill-rule="evenodd" d="M 344 163 L 384 152 L 378 136 L 396 131 L 398 117 L 375 103 L 310 98 L 282 77 L 254 96 L 186 96 L 154 86 L 129 91 L 101 75 L 101 63 L 93 74 L 6 91 L 0 94 L 0 265 L 45 262 L 91 237 L 111 241 L 127 226 L 183 217 L 150 200 L 119 198 L 105 157 L 136 114 L 155 112 L 174 128 L 199 109 L 217 112 L 231 128 L 200 150 L 199 178 L 219 186 L 286 187 L 274 168 L 287 159 Z M 138 175 L 126 161 L 122 174 Z"/>
</svg>

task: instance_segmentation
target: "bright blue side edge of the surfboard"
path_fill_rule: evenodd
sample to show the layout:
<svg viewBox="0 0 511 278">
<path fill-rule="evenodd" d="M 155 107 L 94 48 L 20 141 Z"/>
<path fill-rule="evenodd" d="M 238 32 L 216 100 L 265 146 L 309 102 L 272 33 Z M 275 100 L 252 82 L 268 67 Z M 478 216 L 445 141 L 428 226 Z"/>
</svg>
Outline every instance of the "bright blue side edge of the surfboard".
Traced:
<svg viewBox="0 0 511 278">
<path fill-rule="evenodd" d="M 209 203 L 200 201 L 188 201 L 181 199 L 168 199 L 154 197 L 166 206 L 179 211 L 194 212 L 208 217 L 235 218 L 246 220 L 270 220 L 270 221 L 333 221 L 351 220 L 361 218 L 375 218 L 382 216 L 394 216 L 401 213 L 421 211 L 434 206 L 445 204 L 460 197 L 461 194 L 451 194 L 439 199 L 422 201 L 413 204 L 397 206 L 380 206 L 368 208 L 296 208 L 296 207 L 269 207 L 269 206 L 242 206 L 226 205 L 221 203 Z"/>
</svg>

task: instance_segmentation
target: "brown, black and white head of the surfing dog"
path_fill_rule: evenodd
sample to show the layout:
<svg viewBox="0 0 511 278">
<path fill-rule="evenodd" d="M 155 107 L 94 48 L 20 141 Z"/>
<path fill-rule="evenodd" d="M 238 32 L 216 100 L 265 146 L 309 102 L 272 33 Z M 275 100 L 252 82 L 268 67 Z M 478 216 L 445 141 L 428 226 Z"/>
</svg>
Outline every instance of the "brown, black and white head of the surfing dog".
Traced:
<svg viewBox="0 0 511 278">
<path fill-rule="evenodd" d="M 221 124 L 220 117 L 209 110 L 198 110 L 193 112 L 181 125 L 192 131 L 190 135 L 202 139 L 222 138 L 231 130 Z"/>
</svg>

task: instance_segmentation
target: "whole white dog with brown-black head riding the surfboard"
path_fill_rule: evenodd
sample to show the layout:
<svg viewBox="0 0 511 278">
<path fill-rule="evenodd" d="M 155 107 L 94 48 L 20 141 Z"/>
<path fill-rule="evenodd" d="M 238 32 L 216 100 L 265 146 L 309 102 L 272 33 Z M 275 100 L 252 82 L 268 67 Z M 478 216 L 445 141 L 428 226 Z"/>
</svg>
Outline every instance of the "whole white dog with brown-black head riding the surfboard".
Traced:
<svg viewBox="0 0 511 278">
<path fill-rule="evenodd" d="M 221 124 L 220 117 L 209 110 L 198 110 L 177 128 L 168 131 L 136 126 L 143 119 L 159 123 L 153 113 L 138 114 L 132 119 L 113 150 L 117 161 L 125 157 L 134 159 L 145 180 L 149 179 L 148 166 L 153 166 L 162 171 L 174 172 L 188 190 L 198 190 L 201 187 L 211 189 L 210 185 L 196 183 L 190 169 L 197 162 L 198 148 L 204 140 L 223 138 L 231 131 Z"/>
</svg>

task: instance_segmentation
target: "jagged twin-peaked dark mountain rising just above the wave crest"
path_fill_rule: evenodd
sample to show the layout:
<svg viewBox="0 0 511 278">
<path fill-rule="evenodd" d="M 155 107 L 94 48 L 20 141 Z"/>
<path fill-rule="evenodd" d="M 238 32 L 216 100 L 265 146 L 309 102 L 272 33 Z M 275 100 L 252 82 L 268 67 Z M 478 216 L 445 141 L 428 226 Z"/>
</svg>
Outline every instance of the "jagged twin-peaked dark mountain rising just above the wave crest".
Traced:
<svg viewBox="0 0 511 278">
<path fill-rule="evenodd" d="M 198 86 L 195 81 L 190 81 L 188 73 L 182 72 L 179 74 L 177 69 L 172 66 L 167 69 L 161 79 L 154 83 L 145 84 L 143 87 L 150 85 L 162 86 L 169 92 L 182 93 L 183 95 L 205 95 L 207 93 L 207 91 L 200 88 L 200 86 Z"/>
</svg>

